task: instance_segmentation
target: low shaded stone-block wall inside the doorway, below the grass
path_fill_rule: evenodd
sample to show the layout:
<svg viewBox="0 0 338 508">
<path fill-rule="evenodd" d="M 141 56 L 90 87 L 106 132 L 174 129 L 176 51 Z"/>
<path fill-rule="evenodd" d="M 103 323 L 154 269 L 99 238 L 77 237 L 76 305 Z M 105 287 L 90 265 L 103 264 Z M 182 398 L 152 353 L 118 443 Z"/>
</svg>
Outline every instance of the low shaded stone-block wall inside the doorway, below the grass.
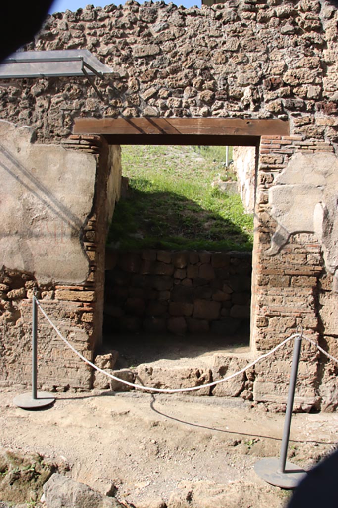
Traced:
<svg viewBox="0 0 338 508">
<path fill-rule="evenodd" d="M 108 331 L 231 335 L 250 321 L 251 253 L 106 252 Z"/>
</svg>

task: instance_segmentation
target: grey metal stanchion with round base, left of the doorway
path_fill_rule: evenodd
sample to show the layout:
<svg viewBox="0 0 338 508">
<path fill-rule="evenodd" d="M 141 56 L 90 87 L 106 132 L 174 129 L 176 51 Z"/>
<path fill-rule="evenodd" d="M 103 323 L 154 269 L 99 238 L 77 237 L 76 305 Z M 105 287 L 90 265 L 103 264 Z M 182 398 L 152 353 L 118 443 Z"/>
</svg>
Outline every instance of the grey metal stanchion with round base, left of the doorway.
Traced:
<svg viewBox="0 0 338 508">
<path fill-rule="evenodd" d="M 37 391 L 37 303 L 32 297 L 32 391 L 14 398 L 14 404 L 23 409 L 40 409 L 55 402 L 55 397 L 47 392 Z"/>
</svg>

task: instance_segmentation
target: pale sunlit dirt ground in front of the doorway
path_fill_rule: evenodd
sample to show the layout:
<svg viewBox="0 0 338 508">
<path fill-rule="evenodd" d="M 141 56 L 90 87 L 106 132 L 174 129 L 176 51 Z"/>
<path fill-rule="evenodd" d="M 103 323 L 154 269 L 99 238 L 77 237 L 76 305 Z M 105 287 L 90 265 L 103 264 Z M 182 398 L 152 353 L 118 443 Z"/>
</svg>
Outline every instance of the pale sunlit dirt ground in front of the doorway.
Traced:
<svg viewBox="0 0 338 508">
<path fill-rule="evenodd" d="M 28 411 L 13 404 L 25 391 L 0 391 L 2 451 L 39 453 L 101 492 L 112 483 L 121 502 L 185 506 L 174 502 L 179 492 L 209 482 L 243 499 L 250 486 L 256 496 L 245 506 L 252 508 L 284 506 L 288 498 L 253 470 L 260 458 L 279 456 L 283 414 L 238 399 L 97 390 L 56 394 L 53 406 Z M 335 448 L 337 427 L 336 414 L 294 415 L 288 458 L 311 466 Z"/>
</svg>

